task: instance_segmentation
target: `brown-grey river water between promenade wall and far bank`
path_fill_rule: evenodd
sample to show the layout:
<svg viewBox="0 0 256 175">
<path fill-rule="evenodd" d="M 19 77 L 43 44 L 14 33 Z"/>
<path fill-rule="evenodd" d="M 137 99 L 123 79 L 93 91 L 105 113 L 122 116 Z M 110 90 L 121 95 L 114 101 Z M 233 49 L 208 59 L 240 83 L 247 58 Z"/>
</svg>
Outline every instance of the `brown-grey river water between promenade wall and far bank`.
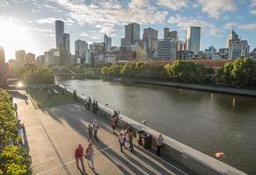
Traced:
<svg viewBox="0 0 256 175">
<path fill-rule="evenodd" d="M 101 80 L 58 83 L 209 156 L 223 151 L 223 162 L 256 174 L 255 98 Z"/>
</svg>

